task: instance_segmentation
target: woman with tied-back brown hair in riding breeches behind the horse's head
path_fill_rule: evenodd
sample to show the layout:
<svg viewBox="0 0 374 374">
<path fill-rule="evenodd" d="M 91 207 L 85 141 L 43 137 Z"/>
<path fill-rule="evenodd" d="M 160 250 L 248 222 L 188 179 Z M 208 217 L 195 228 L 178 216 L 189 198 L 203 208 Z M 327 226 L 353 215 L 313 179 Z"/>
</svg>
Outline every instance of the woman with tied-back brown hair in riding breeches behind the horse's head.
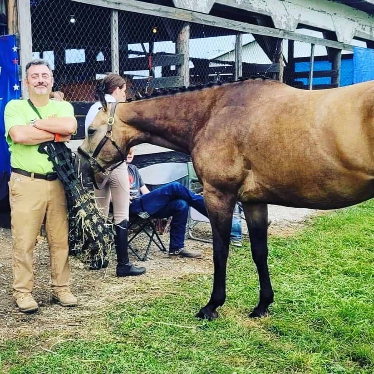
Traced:
<svg viewBox="0 0 374 374">
<path fill-rule="evenodd" d="M 117 74 L 108 74 L 97 86 L 95 99 L 98 101 L 91 106 L 86 116 L 86 134 L 89 125 L 91 125 L 101 107 L 103 110 L 107 110 L 108 103 L 126 100 L 125 79 Z M 95 188 L 95 196 L 98 198 L 98 203 L 106 217 L 109 214 L 110 197 L 113 203 L 113 218 L 116 228 L 117 277 L 144 274 L 144 267 L 136 267 L 129 262 L 127 224 L 129 220 L 130 190 L 126 162 L 103 178 L 101 187 L 100 190 Z M 100 265 L 105 267 L 107 264 Z"/>
</svg>

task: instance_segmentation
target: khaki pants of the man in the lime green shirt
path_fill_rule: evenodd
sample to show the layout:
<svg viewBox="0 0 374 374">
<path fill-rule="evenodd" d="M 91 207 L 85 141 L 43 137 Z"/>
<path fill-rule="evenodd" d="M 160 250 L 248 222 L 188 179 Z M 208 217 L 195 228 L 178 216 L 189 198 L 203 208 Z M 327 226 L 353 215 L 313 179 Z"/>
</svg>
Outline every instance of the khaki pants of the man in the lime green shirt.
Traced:
<svg viewBox="0 0 374 374">
<path fill-rule="evenodd" d="M 61 182 L 12 172 L 9 182 L 13 237 L 13 296 L 33 291 L 33 252 L 46 216 L 52 289 L 69 289 L 68 217 Z"/>
</svg>

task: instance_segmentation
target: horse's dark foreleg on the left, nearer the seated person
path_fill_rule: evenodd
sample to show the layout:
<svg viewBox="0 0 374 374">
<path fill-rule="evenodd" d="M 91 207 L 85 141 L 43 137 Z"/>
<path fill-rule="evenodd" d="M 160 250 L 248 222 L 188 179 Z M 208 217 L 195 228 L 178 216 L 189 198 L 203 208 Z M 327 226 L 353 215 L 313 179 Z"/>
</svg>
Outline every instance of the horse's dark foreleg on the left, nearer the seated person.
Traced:
<svg viewBox="0 0 374 374">
<path fill-rule="evenodd" d="M 217 307 L 226 299 L 226 264 L 229 255 L 230 230 L 236 197 L 204 186 L 205 206 L 213 233 L 214 281 L 211 298 L 197 317 L 211 321 L 218 317 Z"/>
</svg>

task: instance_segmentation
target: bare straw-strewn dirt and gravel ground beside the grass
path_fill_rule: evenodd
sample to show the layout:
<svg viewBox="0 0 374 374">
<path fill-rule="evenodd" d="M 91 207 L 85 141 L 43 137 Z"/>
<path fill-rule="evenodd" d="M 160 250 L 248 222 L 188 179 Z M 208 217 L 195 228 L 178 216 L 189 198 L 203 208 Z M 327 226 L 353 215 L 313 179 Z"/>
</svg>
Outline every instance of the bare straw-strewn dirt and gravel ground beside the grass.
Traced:
<svg viewBox="0 0 374 374">
<path fill-rule="evenodd" d="M 270 235 L 292 235 L 305 226 L 308 217 L 317 214 L 311 209 L 293 209 L 280 206 L 269 207 L 269 218 L 273 224 Z M 244 221 L 243 221 L 244 223 Z M 199 224 L 195 230 L 201 236 L 209 237 L 210 227 Z M 248 240 L 246 227 L 243 225 L 243 237 Z M 169 234 L 162 240 L 168 248 Z M 138 245 L 142 243 L 138 242 Z M 134 298 L 149 298 L 157 295 L 172 294 L 173 290 L 162 286 L 161 279 L 188 278 L 191 274 L 211 275 L 213 273 L 212 245 L 209 243 L 186 240 L 186 247 L 203 252 L 203 257 L 196 260 L 171 260 L 166 252 L 151 247 L 148 261 L 131 261 L 138 266 L 145 266 L 147 273 L 139 277 L 116 278 L 116 260 L 111 256 L 107 269 L 87 270 L 77 258 L 70 258 L 71 289 L 79 300 L 79 306 L 64 308 L 52 302 L 50 291 L 49 252 L 45 237 L 38 237 L 34 251 L 35 288 L 34 297 L 40 309 L 34 315 L 25 315 L 18 310 L 12 298 L 12 237 L 10 230 L 0 229 L 0 343 L 2 340 L 26 337 L 42 332 L 55 331 L 51 341 L 44 342 L 50 347 L 56 341 L 70 337 L 84 338 L 92 330 L 87 329 L 90 317 L 103 318 L 106 308 L 117 302 L 126 302 Z"/>
</svg>

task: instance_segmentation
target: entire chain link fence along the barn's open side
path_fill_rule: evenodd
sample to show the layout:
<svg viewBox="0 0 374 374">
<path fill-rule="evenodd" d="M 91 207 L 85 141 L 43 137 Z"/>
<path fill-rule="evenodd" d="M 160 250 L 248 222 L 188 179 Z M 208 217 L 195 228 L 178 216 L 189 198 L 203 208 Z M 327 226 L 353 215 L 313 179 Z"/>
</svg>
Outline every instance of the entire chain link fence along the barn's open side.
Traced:
<svg viewBox="0 0 374 374">
<path fill-rule="evenodd" d="M 98 80 L 113 67 L 126 78 L 128 96 L 240 76 L 267 76 L 303 89 L 353 83 L 349 51 L 336 71 L 331 50 L 321 45 L 312 52 L 310 43 L 71 0 L 31 0 L 31 27 L 34 58 L 50 63 L 54 90 L 73 102 L 94 101 Z"/>
</svg>

